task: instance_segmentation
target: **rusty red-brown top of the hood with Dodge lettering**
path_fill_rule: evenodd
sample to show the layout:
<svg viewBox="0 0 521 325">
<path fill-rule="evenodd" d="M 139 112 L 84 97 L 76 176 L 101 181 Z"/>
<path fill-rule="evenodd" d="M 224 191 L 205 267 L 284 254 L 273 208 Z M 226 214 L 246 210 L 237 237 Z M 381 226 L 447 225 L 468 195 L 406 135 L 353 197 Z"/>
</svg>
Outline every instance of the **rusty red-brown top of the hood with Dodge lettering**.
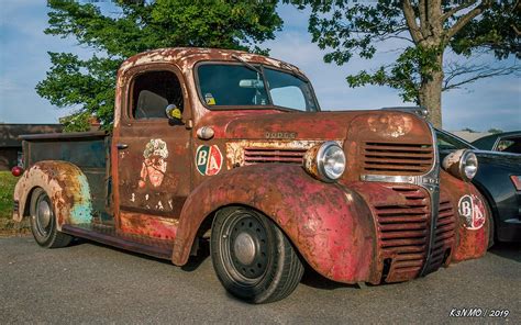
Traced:
<svg viewBox="0 0 521 325">
<path fill-rule="evenodd" d="M 389 111 L 281 112 L 212 111 L 198 123 L 211 126 L 215 138 L 228 139 L 345 139 L 350 133 L 366 141 L 425 142 L 426 123 L 414 114 Z M 428 138 L 430 138 L 430 132 Z"/>
</svg>

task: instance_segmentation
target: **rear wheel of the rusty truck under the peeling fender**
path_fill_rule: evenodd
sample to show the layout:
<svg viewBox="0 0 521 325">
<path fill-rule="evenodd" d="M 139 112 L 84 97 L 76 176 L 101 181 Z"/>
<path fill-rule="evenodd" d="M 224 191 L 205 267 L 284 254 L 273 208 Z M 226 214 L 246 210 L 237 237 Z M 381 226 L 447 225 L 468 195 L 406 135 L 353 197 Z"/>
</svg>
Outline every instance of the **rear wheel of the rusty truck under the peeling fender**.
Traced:
<svg viewBox="0 0 521 325">
<path fill-rule="evenodd" d="M 56 229 L 56 217 L 53 202 L 42 188 L 36 188 L 31 195 L 31 232 L 34 240 L 45 248 L 65 247 L 73 236 Z"/>
</svg>

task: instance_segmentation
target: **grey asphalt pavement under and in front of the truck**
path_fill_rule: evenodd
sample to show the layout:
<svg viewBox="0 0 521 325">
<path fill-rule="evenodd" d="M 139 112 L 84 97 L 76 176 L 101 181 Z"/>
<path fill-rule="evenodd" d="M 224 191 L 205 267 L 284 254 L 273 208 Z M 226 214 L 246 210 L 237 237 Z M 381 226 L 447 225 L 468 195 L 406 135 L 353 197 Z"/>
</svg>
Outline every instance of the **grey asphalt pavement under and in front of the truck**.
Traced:
<svg viewBox="0 0 521 325">
<path fill-rule="evenodd" d="M 455 317 L 464 310 L 474 316 Z M 519 245 L 397 284 L 359 288 L 308 271 L 286 300 L 250 305 L 225 292 L 210 258 L 179 268 L 92 242 L 44 249 L 32 237 L 0 238 L 0 324 L 462 322 L 521 324 Z"/>
</svg>

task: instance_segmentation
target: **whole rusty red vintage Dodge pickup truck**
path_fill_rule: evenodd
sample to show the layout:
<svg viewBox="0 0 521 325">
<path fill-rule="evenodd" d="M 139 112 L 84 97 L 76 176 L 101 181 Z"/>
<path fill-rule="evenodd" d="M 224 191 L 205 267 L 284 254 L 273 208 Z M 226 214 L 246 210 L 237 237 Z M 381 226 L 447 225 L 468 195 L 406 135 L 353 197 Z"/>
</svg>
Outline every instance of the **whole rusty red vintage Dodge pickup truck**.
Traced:
<svg viewBox="0 0 521 325">
<path fill-rule="evenodd" d="M 115 93 L 110 135 L 23 137 L 13 217 L 43 247 L 82 237 L 182 266 L 206 240 L 252 303 L 290 294 L 306 265 L 378 284 L 486 253 L 476 156 L 439 161 L 414 114 L 323 112 L 297 67 L 224 49 L 131 57 Z"/>
</svg>

